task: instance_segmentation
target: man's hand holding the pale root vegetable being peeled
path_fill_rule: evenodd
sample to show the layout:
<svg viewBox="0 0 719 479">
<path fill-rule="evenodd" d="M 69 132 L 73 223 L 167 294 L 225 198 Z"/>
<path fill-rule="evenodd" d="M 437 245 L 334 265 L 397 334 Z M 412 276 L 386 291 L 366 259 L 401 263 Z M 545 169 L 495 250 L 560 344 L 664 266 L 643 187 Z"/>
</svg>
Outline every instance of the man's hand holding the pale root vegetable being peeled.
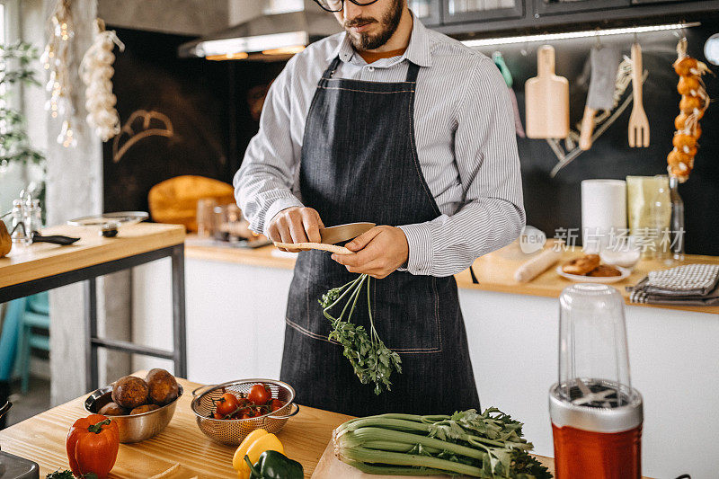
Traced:
<svg viewBox="0 0 719 479">
<path fill-rule="evenodd" d="M 407 237 L 394 226 L 375 226 L 345 246 L 355 254 L 334 253 L 332 259 L 343 264 L 347 271 L 367 273 L 377 279 L 388 276 L 409 257 Z"/>
</svg>

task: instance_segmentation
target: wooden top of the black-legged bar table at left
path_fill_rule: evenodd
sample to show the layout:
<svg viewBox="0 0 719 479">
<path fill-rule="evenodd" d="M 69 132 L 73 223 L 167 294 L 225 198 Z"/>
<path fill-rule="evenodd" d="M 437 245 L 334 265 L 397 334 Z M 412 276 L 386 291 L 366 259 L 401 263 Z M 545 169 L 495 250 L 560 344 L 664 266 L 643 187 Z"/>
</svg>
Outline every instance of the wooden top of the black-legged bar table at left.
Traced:
<svg viewBox="0 0 719 479">
<path fill-rule="evenodd" d="M 181 225 L 139 223 L 122 226 L 119 235 L 105 238 L 97 227 L 52 226 L 43 229 L 42 235 L 79 236 L 80 241 L 67 246 L 13 245 L 13 250 L 0 258 L 0 288 L 182 244 L 185 229 Z"/>
</svg>

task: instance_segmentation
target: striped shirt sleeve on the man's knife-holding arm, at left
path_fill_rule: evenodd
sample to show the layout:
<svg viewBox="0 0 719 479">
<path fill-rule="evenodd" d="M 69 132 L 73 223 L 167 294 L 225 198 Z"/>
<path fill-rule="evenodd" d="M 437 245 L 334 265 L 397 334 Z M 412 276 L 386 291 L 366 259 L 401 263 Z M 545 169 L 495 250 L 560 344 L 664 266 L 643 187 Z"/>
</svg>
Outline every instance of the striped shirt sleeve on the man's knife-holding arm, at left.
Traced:
<svg viewBox="0 0 719 479">
<path fill-rule="evenodd" d="M 266 235 L 272 217 L 282 209 L 303 206 L 292 192 L 299 158 L 289 129 L 297 57 L 288 61 L 272 83 L 262 107 L 260 130 L 250 140 L 233 180 L 237 205 L 255 233 Z"/>
</svg>

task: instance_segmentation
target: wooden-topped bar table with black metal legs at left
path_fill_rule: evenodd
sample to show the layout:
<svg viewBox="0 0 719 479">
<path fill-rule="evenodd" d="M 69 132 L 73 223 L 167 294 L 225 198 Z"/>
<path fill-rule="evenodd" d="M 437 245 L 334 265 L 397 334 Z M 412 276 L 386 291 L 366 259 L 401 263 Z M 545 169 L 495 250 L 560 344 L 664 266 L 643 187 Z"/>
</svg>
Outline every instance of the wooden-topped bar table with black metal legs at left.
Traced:
<svg viewBox="0 0 719 479">
<path fill-rule="evenodd" d="M 99 235 L 92 226 L 53 226 L 42 235 L 80 237 L 75 244 L 38 243 L 16 247 L 0 258 L 0 303 L 86 281 L 85 362 L 88 387 L 97 388 L 97 349 L 122 350 L 171 359 L 174 372 L 187 376 L 185 338 L 184 238 L 181 225 L 140 223 L 121 226 L 116 237 Z M 173 268 L 173 350 L 156 350 L 131 342 L 97 336 L 96 279 L 161 258 L 172 258 Z"/>
</svg>

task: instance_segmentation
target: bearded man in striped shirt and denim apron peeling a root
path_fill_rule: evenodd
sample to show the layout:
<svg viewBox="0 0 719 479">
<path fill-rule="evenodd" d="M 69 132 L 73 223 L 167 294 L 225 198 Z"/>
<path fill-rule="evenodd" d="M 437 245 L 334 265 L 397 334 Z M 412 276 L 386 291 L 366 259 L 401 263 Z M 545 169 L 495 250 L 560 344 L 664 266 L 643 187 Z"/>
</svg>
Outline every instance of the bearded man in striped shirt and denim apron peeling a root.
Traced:
<svg viewBox="0 0 719 479">
<path fill-rule="evenodd" d="M 378 226 L 350 255 L 299 253 L 280 378 L 297 402 L 354 415 L 479 407 L 453 275 L 524 226 L 507 88 L 492 60 L 425 29 L 406 0 L 315 0 L 342 33 L 288 61 L 235 175 L 250 227 L 283 243 Z M 289 250 L 295 251 L 295 250 Z M 374 324 L 402 359 L 362 385 L 318 299 L 367 273 Z M 368 324 L 357 307 L 356 324 Z M 367 327 L 367 326 L 366 326 Z"/>
</svg>

